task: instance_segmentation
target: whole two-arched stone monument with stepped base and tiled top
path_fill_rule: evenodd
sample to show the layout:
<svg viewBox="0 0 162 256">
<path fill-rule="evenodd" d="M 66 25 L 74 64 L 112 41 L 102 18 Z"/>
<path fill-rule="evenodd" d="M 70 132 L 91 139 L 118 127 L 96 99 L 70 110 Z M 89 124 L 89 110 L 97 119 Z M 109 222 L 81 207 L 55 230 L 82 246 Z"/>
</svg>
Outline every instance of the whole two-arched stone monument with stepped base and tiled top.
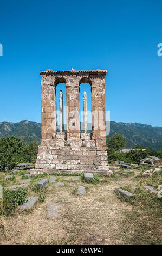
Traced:
<svg viewBox="0 0 162 256">
<path fill-rule="evenodd" d="M 92 172 L 111 175 L 105 135 L 106 70 L 41 71 L 42 141 L 31 174 Z M 57 132 L 56 86 L 66 83 L 67 131 L 63 132 L 63 94 L 59 95 L 60 132 Z M 84 129 L 80 133 L 80 84 L 92 92 L 92 133 L 87 133 L 87 94 L 83 93 Z"/>
</svg>

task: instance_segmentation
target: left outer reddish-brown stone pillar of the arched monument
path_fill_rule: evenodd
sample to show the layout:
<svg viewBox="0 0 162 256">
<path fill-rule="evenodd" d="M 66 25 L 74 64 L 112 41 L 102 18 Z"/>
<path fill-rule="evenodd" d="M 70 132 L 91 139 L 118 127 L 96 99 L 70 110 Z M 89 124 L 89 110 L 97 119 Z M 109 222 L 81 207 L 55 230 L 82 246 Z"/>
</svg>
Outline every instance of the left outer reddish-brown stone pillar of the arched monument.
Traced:
<svg viewBox="0 0 162 256">
<path fill-rule="evenodd" d="M 41 76 L 41 91 L 42 139 L 51 139 L 56 133 L 56 90 L 52 75 Z"/>
</svg>

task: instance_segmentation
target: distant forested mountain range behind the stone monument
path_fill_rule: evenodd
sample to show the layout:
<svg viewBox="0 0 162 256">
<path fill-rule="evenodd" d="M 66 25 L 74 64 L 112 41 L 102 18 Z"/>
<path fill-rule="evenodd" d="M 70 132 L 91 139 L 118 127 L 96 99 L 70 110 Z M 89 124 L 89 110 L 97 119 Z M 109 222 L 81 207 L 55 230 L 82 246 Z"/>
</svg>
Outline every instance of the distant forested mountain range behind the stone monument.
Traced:
<svg viewBox="0 0 162 256">
<path fill-rule="evenodd" d="M 90 132 L 90 124 L 88 131 Z M 108 126 L 108 122 L 106 122 Z M 66 127 L 65 127 L 66 128 Z M 127 148 L 135 145 L 144 145 L 154 150 L 162 149 L 162 127 L 152 127 L 151 125 L 139 123 L 116 123 L 110 122 L 110 133 L 122 133 L 126 137 Z M 41 141 L 41 124 L 31 121 L 21 121 L 19 123 L 0 123 L 0 138 L 16 135 L 23 141 Z"/>
</svg>

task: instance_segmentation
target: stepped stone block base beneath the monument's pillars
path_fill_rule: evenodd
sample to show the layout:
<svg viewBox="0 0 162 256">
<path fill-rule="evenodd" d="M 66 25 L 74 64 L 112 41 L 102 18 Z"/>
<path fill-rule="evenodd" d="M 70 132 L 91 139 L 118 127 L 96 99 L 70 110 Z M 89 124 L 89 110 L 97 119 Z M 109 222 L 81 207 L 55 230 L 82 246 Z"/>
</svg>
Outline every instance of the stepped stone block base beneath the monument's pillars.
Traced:
<svg viewBox="0 0 162 256">
<path fill-rule="evenodd" d="M 81 133 L 80 139 L 65 139 L 64 133 L 57 133 L 57 139 L 42 139 L 38 148 L 37 160 L 31 174 L 92 172 L 112 175 L 107 161 L 107 148 L 102 140 L 98 147 L 90 133 Z"/>
</svg>

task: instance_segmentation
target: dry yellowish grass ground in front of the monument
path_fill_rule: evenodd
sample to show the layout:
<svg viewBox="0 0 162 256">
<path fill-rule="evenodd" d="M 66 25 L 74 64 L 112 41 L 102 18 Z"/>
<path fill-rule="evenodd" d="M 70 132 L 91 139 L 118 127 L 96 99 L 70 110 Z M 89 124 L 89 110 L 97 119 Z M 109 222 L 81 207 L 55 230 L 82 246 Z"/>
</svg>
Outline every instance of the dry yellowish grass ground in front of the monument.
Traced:
<svg viewBox="0 0 162 256">
<path fill-rule="evenodd" d="M 21 177 L 16 176 L 20 182 Z M 51 175 L 50 175 L 51 176 Z M 50 177 L 48 176 L 48 178 Z M 62 181 L 64 176 L 58 176 Z M 28 196 L 38 195 L 34 190 L 37 180 L 33 178 L 28 188 Z M 71 181 L 74 182 L 74 181 Z M 33 210 L 17 210 L 14 217 L 0 217 L 1 244 L 124 244 L 128 243 L 124 229 L 125 216 L 133 211 L 132 205 L 122 202 L 114 193 L 116 188 L 128 184 L 135 185 L 132 176 L 106 178 L 106 182 L 83 184 L 86 196 L 74 194 L 74 187 L 64 181 L 64 187 L 48 184 L 45 188 L 46 199 L 37 202 Z M 60 202 L 59 217 L 47 219 L 46 204 Z M 2 228 L 1 228 L 2 225 Z M 127 227 L 129 229 L 129 227 Z M 136 231 L 135 231 L 136 232 Z M 128 236 L 131 234 L 128 232 Z M 138 238 L 135 242 L 138 243 Z"/>
</svg>

